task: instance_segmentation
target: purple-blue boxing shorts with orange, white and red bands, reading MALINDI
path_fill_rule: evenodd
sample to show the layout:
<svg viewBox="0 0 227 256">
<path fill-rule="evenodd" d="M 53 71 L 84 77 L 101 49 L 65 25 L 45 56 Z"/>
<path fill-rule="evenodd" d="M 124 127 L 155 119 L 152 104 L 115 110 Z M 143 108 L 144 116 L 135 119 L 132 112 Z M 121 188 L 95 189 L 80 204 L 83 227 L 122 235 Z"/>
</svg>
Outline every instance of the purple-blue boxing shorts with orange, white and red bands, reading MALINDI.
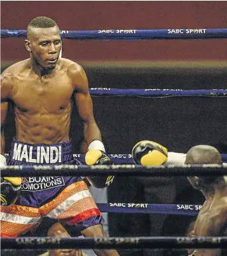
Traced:
<svg viewBox="0 0 227 256">
<path fill-rule="evenodd" d="M 26 144 L 15 138 L 7 165 L 78 165 L 70 142 Z M 86 182 L 81 177 L 23 177 L 15 204 L 1 206 L 1 237 L 17 237 L 37 227 L 43 217 L 58 219 L 66 229 L 82 231 L 104 223 Z M 68 228 L 67 228 L 68 227 Z"/>
</svg>

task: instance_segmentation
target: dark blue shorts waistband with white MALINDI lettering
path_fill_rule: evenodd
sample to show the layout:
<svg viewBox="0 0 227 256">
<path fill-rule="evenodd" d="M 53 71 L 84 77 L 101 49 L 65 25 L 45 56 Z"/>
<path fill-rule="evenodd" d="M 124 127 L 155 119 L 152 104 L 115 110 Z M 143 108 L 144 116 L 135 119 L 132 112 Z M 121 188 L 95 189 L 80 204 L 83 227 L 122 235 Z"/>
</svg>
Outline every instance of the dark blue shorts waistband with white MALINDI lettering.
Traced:
<svg viewBox="0 0 227 256">
<path fill-rule="evenodd" d="M 59 164 L 73 159 L 70 142 L 28 144 L 13 138 L 9 158 L 31 164 Z"/>
</svg>

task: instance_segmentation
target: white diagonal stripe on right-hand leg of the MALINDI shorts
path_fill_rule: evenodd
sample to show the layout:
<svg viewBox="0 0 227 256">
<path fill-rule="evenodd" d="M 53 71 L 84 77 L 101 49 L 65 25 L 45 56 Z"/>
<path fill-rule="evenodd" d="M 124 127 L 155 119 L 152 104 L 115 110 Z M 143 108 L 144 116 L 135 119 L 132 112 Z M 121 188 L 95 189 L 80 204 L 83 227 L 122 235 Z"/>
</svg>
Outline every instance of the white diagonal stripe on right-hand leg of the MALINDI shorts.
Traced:
<svg viewBox="0 0 227 256">
<path fill-rule="evenodd" d="M 76 203 L 76 201 L 79 201 L 80 199 L 83 199 L 85 197 L 92 197 L 92 194 L 89 190 L 83 190 L 78 193 L 74 193 L 74 195 L 68 197 L 65 201 L 60 203 L 60 205 L 50 211 L 50 213 L 48 213 L 46 216 L 54 219 L 55 217 L 66 211 L 66 209 L 68 209 L 68 207 L 70 207 L 73 203 Z"/>
</svg>

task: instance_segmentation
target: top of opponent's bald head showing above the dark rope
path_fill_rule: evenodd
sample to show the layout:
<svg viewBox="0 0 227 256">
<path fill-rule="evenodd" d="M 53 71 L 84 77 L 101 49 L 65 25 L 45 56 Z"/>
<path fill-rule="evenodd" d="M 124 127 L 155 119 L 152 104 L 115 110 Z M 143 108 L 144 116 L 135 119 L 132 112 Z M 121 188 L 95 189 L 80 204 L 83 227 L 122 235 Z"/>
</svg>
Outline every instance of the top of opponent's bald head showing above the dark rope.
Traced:
<svg viewBox="0 0 227 256">
<path fill-rule="evenodd" d="M 198 145 L 187 152 L 185 164 L 222 164 L 222 156 L 212 146 Z"/>
</svg>

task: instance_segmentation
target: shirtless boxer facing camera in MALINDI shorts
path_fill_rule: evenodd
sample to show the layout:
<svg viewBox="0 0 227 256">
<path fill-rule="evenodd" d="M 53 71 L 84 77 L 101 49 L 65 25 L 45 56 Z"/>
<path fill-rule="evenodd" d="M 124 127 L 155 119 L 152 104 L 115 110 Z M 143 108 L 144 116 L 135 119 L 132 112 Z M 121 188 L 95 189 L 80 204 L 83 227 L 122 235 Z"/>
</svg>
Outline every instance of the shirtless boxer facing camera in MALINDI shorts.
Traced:
<svg viewBox="0 0 227 256">
<path fill-rule="evenodd" d="M 1 125 L 9 101 L 13 102 L 16 122 L 16 137 L 7 164 L 79 164 L 73 158 L 69 138 L 73 100 L 84 124 L 86 163 L 112 164 L 94 120 L 86 74 L 80 65 L 59 58 L 61 39 L 55 21 L 47 17 L 33 19 L 27 28 L 25 47 L 30 58 L 13 64 L 1 75 Z M 2 130 L 1 165 L 5 164 L 4 146 Z M 104 188 L 113 176 L 88 180 L 93 186 Z M 102 215 L 82 178 L 1 180 L 1 236 L 27 233 L 45 216 L 58 219 L 71 236 L 76 229 L 85 237 L 106 236 Z M 115 250 L 95 250 L 95 253 L 118 255 Z"/>
</svg>

